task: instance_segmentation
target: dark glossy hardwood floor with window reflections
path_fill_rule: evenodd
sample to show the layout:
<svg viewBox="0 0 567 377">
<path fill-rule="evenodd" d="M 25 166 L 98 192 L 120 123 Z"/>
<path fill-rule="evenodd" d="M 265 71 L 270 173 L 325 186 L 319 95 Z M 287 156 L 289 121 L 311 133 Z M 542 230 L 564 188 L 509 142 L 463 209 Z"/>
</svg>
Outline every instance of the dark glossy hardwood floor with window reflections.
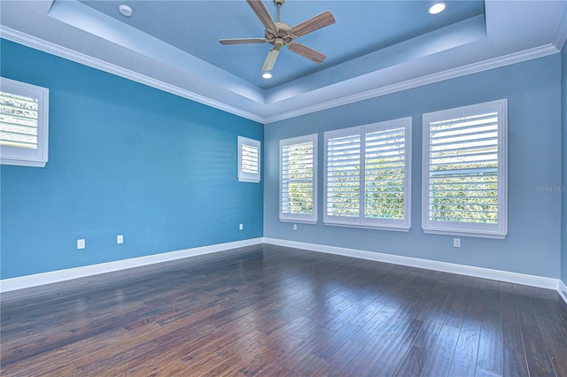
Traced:
<svg viewBox="0 0 567 377">
<path fill-rule="evenodd" d="M 2 296 L 4 376 L 567 376 L 548 289 L 271 245 Z"/>
</svg>

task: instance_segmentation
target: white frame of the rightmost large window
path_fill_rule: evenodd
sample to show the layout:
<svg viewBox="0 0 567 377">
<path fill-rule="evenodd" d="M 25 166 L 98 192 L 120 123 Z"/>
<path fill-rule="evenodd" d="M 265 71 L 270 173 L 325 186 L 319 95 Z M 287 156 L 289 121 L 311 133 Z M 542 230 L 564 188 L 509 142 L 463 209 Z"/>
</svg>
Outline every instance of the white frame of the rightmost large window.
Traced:
<svg viewBox="0 0 567 377">
<path fill-rule="evenodd" d="M 498 113 L 497 224 L 435 221 L 429 219 L 429 165 L 431 122 Z M 504 239 L 508 234 L 508 100 L 471 104 L 423 114 L 422 228 L 424 233 Z"/>
</svg>

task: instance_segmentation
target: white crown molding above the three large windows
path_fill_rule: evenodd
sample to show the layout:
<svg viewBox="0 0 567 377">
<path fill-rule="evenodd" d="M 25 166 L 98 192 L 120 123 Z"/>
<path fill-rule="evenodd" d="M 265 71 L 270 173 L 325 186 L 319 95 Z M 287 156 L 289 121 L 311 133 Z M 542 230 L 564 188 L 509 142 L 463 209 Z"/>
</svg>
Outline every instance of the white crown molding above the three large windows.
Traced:
<svg viewBox="0 0 567 377">
<path fill-rule="evenodd" d="M 548 55 L 555 54 L 559 51 L 560 50 L 558 50 L 553 44 L 550 43 L 540 47 L 535 47 L 530 50 L 515 52 L 499 58 L 492 58 L 478 63 L 473 63 L 470 65 L 463 65 L 439 73 L 431 73 L 426 76 L 418 77 L 416 79 L 401 81 L 385 87 L 375 88 L 375 89 L 367 90 L 365 92 L 357 93 L 352 96 L 345 96 L 325 103 L 315 104 L 313 106 L 307 106 L 305 108 L 301 108 L 293 112 L 284 112 L 266 118 L 265 124 L 274 123 L 276 121 L 283 119 L 299 117 L 301 115 L 306 115 L 312 112 L 321 112 L 323 110 L 327 110 L 337 106 L 342 106 L 344 104 L 353 104 L 355 102 L 363 101 L 365 99 L 374 98 L 377 96 L 385 96 L 395 92 L 400 92 L 402 90 L 422 87 L 424 85 L 432 84 L 439 81 L 454 79 L 456 77 L 465 76 L 471 73 L 479 73 L 479 72 L 491 70 L 493 68 L 498 68 L 504 65 L 512 65 L 523 62 L 525 60 L 543 58 L 543 57 L 547 57 Z"/>
</svg>

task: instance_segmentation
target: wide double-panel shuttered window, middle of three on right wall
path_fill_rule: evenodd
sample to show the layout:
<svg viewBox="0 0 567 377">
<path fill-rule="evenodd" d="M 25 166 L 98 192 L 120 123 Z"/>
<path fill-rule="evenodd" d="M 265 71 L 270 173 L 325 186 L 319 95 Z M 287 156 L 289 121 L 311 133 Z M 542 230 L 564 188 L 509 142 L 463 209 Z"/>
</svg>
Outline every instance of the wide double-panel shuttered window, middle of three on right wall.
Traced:
<svg viewBox="0 0 567 377">
<path fill-rule="evenodd" d="M 323 222 L 408 231 L 411 118 L 325 133 Z"/>
</svg>

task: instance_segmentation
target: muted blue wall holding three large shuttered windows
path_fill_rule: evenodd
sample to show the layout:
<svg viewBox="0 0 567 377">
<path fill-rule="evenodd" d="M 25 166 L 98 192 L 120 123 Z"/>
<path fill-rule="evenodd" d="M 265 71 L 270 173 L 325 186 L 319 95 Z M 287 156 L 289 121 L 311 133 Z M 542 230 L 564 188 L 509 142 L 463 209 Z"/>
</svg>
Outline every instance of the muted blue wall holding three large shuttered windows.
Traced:
<svg viewBox="0 0 567 377">
<path fill-rule="evenodd" d="M 286 119 L 265 127 L 264 236 L 378 251 L 550 278 L 560 276 L 561 55 L 555 54 L 355 104 Z M 467 104 L 509 100 L 509 235 L 505 240 L 426 235 L 421 228 L 422 114 Z M 324 131 L 413 117 L 412 228 L 409 233 L 322 225 Z M 319 222 L 278 220 L 278 141 L 319 134 Z"/>
</svg>

